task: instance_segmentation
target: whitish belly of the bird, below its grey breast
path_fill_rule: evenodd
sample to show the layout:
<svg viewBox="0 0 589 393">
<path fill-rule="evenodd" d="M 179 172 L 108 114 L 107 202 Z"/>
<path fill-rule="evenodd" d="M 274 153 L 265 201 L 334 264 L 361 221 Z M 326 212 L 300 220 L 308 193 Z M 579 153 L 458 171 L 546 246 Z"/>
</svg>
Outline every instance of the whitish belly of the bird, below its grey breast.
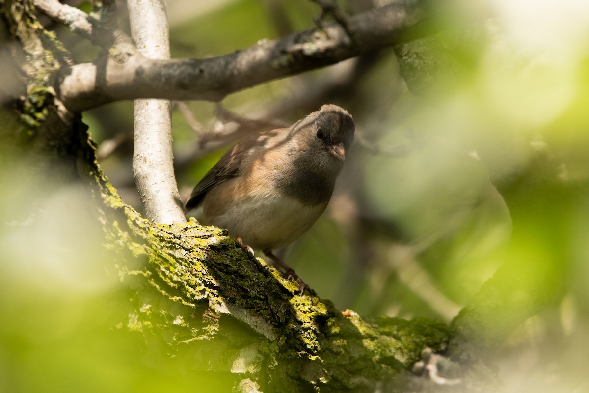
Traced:
<svg viewBox="0 0 589 393">
<path fill-rule="evenodd" d="M 327 202 L 305 206 L 295 199 L 265 194 L 206 218 L 208 224 L 226 228 L 229 235 L 241 236 L 244 244 L 266 251 L 284 247 L 303 235 L 326 206 Z"/>
</svg>

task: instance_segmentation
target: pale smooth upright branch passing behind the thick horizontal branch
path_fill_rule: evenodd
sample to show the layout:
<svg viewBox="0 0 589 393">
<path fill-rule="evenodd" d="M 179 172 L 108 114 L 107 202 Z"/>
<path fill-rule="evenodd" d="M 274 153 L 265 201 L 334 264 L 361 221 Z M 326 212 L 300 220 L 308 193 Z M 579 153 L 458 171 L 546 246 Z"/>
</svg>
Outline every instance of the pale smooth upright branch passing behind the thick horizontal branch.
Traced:
<svg viewBox="0 0 589 393">
<path fill-rule="evenodd" d="M 163 1 L 128 0 L 131 33 L 146 57 L 169 59 Z M 145 216 L 157 223 L 186 222 L 174 176 L 169 100 L 135 100 L 133 177 Z"/>
</svg>

